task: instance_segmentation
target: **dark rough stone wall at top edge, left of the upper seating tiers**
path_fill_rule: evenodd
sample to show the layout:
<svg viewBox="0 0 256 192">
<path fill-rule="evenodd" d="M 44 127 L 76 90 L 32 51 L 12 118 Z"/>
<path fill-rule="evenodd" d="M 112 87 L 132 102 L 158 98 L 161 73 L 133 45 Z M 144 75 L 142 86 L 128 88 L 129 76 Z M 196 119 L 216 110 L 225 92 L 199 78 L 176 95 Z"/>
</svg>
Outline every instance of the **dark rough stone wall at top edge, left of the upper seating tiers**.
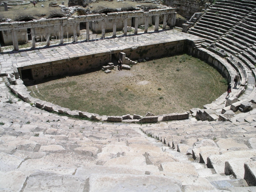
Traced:
<svg viewBox="0 0 256 192">
<path fill-rule="evenodd" d="M 178 14 L 189 19 L 196 12 L 202 12 L 213 0 L 165 0 L 165 4 L 177 8 Z M 206 7 L 205 7 L 206 6 Z"/>
</svg>

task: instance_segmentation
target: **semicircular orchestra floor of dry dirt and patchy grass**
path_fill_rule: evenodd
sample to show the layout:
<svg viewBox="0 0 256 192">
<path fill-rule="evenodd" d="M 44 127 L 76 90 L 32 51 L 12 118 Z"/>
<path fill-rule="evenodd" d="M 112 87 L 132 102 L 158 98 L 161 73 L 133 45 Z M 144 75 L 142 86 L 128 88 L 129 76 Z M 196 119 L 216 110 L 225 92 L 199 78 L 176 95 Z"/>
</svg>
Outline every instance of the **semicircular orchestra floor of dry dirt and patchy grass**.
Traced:
<svg viewBox="0 0 256 192">
<path fill-rule="evenodd" d="M 31 95 L 101 115 L 155 115 L 202 108 L 225 93 L 225 79 L 187 55 L 139 63 L 131 71 L 95 71 L 28 86 Z"/>
</svg>

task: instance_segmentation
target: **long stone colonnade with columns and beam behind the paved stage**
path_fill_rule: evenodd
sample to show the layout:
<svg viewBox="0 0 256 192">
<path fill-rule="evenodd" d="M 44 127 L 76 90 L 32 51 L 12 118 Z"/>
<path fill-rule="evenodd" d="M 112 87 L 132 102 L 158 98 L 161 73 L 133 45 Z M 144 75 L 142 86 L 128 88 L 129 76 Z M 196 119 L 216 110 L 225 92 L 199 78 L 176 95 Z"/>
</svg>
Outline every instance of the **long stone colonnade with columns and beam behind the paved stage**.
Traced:
<svg viewBox="0 0 256 192">
<path fill-rule="evenodd" d="M 172 14 L 170 14 L 170 9 L 172 9 Z M 173 11 L 174 9 L 174 11 Z M 166 29 L 166 23 L 167 23 L 167 16 L 169 15 L 170 18 L 170 25 L 175 25 L 175 20 L 176 20 L 176 12 L 175 8 L 169 8 L 169 9 L 162 9 L 162 10 L 151 10 L 149 12 L 143 12 L 143 11 L 128 11 L 128 12 L 117 12 L 117 13 L 109 13 L 108 15 L 106 14 L 95 14 L 95 15 L 86 15 L 86 16 L 76 16 L 74 18 L 68 18 L 65 23 L 63 20 L 60 19 L 60 22 L 56 23 L 53 25 L 49 23 L 49 27 L 46 26 L 45 32 L 46 32 L 46 45 L 50 46 L 50 27 L 55 27 L 56 25 L 59 25 L 59 39 L 60 39 L 60 44 L 64 43 L 64 27 L 71 26 L 73 28 L 73 37 L 74 41 L 73 42 L 78 42 L 78 36 L 79 31 L 80 31 L 80 23 L 85 22 L 86 23 L 86 41 L 90 41 L 90 22 L 92 21 L 101 21 L 101 36 L 102 38 L 105 38 L 105 21 L 112 19 L 112 25 L 113 25 L 113 37 L 116 37 L 116 26 L 117 22 L 123 22 L 124 23 L 124 35 L 127 35 L 127 27 L 128 27 L 128 18 L 133 19 L 134 18 L 134 34 L 138 33 L 138 18 L 144 17 L 145 18 L 145 28 L 144 28 L 144 33 L 147 33 L 148 31 L 148 21 L 149 18 L 152 18 L 152 16 L 155 16 L 155 31 L 159 30 L 159 18 L 160 16 L 163 15 L 163 29 Z M 91 16 L 90 19 L 88 19 L 88 16 Z M 71 21 L 73 23 L 71 23 Z M 67 25 L 69 23 L 69 25 Z M 17 26 L 17 22 L 14 25 L 13 29 L 11 29 L 11 35 L 12 35 L 12 44 L 14 50 L 19 50 L 19 44 L 18 44 L 18 38 L 17 38 L 17 31 L 19 30 L 19 26 Z M 24 22 L 21 24 L 24 24 Z M 21 28 L 24 28 L 24 25 L 20 25 Z M 27 25 L 27 28 L 30 27 L 30 35 L 31 35 L 31 41 L 32 41 L 32 48 L 36 47 L 35 44 L 35 39 L 36 34 L 35 30 L 36 27 L 40 27 L 40 25 L 34 25 L 33 22 L 30 23 L 30 26 Z M 1 30 L 1 24 L 0 24 L 0 30 Z M 3 29 L 2 29 L 3 30 Z M 28 35 L 28 34 L 27 34 Z M 1 51 L 1 47 L 0 47 Z"/>
</svg>

